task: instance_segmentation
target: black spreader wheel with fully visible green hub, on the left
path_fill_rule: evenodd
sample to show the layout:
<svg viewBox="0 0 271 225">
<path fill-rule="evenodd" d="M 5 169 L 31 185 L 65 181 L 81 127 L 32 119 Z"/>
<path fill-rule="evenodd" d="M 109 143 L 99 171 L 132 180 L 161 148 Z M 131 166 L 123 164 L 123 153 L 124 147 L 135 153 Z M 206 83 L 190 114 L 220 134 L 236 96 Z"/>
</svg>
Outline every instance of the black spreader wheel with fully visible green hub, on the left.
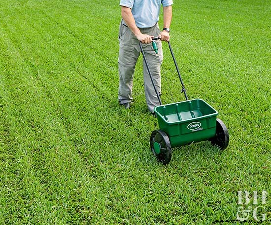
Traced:
<svg viewBox="0 0 271 225">
<path fill-rule="evenodd" d="M 164 165 L 171 160 L 172 149 L 168 135 L 162 130 L 155 130 L 150 137 L 151 151 L 156 156 L 157 160 Z"/>
</svg>

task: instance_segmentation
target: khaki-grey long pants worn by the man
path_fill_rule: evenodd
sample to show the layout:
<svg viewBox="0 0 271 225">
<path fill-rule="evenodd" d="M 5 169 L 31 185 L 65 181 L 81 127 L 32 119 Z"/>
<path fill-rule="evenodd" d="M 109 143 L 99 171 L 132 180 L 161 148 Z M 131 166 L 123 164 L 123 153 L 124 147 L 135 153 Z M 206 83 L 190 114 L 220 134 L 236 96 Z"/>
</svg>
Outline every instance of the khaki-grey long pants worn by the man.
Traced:
<svg viewBox="0 0 271 225">
<path fill-rule="evenodd" d="M 160 34 L 158 24 L 151 28 L 139 28 L 143 34 L 157 37 Z M 124 104 L 132 101 L 133 76 L 135 65 L 140 55 L 139 41 L 130 28 L 121 20 L 119 28 L 119 103 Z M 162 44 L 156 41 L 158 54 L 153 50 L 152 44 L 142 44 L 151 74 L 158 93 L 161 93 L 160 66 L 163 61 Z M 159 105 L 158 98 L 151 83 L 145 62 L 143 61 L 144 90 L 148 109 L 153 112 L 155 106 Z"/>
</svg>

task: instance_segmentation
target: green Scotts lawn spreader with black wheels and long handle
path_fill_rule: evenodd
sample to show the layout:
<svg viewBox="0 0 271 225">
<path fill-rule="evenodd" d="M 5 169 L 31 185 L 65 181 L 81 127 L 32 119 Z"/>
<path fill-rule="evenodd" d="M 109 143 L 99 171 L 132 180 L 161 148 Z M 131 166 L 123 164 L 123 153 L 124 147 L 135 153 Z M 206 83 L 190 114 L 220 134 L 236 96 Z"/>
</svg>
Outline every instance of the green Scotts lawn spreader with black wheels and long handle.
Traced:
<svg viewBox="0 0 271 225">
<path fill-rule="evenodd" d="M 157 53 L 157 47 L 153 38 L 153 49 Z M 159 100 L 160 106 L 154 108 L 159 130 L 154 130 L 150 136 L 150 147 L 158 161 L 164 165 L 168 164 L 172 156 L 172 148 L 191 144 L 199 141 L 211 141 L 212 145 L 221 150 L 227 148 L 229 133 L 225 124 L 217 118 L 218 112 L 202 99 L 189 100 L 182 77 L 171 47 L 169 50 L 182 85 L 186 101 L 162 105 L 161 98 L 154 84 L 150 67 L 148 65 L 141 42 L 139 43 L 143 60 L 146 63 L 151 82 Z"/>
</svg>

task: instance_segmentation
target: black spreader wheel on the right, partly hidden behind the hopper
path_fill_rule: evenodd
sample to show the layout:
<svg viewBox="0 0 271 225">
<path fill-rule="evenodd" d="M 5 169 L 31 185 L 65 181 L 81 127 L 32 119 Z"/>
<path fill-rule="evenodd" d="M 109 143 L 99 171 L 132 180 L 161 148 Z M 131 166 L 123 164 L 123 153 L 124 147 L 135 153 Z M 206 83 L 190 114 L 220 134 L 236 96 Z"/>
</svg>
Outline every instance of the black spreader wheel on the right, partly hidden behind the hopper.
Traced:
<svg viewBox="0 0 271 225">
<path fill-rule="evenodd" d="M 221 150 L 227 148 L 229 144 L 229 132 L 221 119 L 216 119 L 215 137 L 210 139 L 212 145 L 219 147 Z"/>
</svg>

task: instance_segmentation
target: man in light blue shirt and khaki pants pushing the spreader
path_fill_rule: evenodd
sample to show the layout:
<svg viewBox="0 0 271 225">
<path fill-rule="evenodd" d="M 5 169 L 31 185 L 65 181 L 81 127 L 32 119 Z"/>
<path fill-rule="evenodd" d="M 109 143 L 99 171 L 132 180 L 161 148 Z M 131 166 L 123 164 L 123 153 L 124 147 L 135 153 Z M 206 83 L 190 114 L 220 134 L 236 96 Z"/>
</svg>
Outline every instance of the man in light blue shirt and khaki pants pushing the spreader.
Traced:
<svg viewBox="0 0 271 225">
<path fill-rule="evenodd" d="M 158 27 L 159 12 L 163 6 L 163 31 Z M 161 93 L 160 66 L 163 61 L 162 44 L 157 40 L 158 54 L 152 47 L 152 38 L 160 37 L 169 41 L 170 24 L 172 19 L 173 0 L 120 0 L 122 20 L 119 28 L 119 104 L 126 109 L 132 101 L 133 75 L 135 65 L 140 55 L 141 41 L 154 83 Z M 151 83 L 145 62 L 143 61 L 144 89 L 148 109 L 159 105 L 154 87 Z"/>
</svg>

